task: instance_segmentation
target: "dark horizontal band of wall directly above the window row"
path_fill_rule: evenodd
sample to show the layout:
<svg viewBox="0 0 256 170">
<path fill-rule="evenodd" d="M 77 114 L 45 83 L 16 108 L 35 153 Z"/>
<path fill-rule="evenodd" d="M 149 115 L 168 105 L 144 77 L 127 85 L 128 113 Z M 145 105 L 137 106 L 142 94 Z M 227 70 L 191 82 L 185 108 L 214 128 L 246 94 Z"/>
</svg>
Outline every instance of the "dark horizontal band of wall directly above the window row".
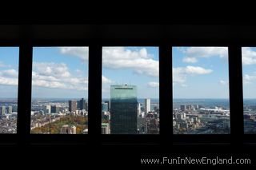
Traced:
<svg viewBox="0 0 256 170">
<path fill-rule="evenodd" d="M 256 38 L 255 29 L 251 24 L 0 25 L 0 42 L 15 45 L 26 39 L 33 45 L 250 45 Z"/>
</svg>

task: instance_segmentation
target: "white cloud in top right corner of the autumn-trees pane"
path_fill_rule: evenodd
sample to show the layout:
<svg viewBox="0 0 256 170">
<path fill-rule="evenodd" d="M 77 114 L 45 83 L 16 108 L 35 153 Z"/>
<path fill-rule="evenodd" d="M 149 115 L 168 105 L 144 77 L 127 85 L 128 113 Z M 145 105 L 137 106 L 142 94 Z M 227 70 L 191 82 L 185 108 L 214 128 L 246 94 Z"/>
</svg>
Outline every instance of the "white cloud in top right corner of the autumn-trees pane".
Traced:
<svg viewBox="0 0 256 170">
<path fill-rule="evenodd" d="M 82 61 L 88 61 L 88 47 L 59 47 L 62 54 L 79 57 Z"/>
</svg>

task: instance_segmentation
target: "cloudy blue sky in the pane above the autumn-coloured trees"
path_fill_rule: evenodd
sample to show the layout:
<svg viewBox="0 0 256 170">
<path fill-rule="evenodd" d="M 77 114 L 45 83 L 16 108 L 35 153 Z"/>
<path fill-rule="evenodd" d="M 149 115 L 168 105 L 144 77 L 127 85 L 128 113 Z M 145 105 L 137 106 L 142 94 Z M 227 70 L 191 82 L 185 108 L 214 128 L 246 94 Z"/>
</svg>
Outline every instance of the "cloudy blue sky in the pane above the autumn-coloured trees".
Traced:
<svg viewBox="0 0 256 170">
<path fill-rule="evenodd" d="M 87 47 L 35 47 L 32 97 L 87 98 Z"/>
</svg>

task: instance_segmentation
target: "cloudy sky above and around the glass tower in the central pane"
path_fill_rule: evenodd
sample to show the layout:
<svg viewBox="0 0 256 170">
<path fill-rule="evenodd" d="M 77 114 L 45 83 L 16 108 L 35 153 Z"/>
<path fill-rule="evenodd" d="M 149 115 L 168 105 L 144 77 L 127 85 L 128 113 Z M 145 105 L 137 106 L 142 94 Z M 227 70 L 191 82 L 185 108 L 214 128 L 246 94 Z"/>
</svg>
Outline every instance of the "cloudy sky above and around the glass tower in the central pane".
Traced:
<svg viewBox="0 0 256 170">
<path fill-rule="evenodd" d="M 158 47 L 103 47 L 102 98 L 110 85 L 136 85 L 138 98 L 159 98 Z"/>
</svg>

